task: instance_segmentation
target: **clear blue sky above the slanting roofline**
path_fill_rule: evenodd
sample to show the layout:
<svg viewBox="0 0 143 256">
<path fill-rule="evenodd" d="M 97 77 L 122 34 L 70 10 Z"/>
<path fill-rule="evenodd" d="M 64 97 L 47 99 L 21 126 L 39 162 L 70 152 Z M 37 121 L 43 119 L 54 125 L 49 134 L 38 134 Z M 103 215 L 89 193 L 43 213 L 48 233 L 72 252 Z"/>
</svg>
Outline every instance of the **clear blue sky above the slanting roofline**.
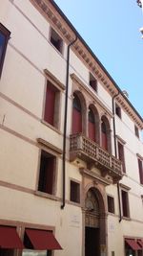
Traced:
<svg viewBox="0 0 143 256">
<path fill-rule="evenodd" d="M 143 117 L 143 13 L 136 0 L 55 0 Z"/>
</svg>

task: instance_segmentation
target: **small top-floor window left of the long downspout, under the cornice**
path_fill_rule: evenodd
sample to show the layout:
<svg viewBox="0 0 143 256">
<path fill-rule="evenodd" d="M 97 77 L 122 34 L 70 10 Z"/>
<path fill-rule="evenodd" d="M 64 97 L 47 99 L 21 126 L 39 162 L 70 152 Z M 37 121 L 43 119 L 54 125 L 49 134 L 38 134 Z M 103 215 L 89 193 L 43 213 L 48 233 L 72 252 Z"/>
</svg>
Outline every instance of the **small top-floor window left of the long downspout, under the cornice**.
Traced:
<svg viewBox="0 0 143 256">
<path fill-rule="evenodd" d="M 62 54 L 63 39 L 51 28 L 51 44 Z"/>
</svg>

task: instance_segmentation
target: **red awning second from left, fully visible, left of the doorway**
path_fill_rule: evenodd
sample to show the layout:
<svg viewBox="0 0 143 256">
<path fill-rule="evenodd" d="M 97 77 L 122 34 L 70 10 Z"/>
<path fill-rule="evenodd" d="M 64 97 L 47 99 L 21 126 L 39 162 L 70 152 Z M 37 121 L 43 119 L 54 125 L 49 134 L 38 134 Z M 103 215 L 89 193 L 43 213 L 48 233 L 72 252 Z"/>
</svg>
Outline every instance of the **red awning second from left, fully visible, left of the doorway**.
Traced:
<svg viewBox="0 0 143 256">
<path fill-rule="evenodd" d="M 37 250 L 57 250 L 62 249 L 56 241 L 51 231 L 26 228 L 26 234 L 29 237 L 34 249 Z"/>
</svg>

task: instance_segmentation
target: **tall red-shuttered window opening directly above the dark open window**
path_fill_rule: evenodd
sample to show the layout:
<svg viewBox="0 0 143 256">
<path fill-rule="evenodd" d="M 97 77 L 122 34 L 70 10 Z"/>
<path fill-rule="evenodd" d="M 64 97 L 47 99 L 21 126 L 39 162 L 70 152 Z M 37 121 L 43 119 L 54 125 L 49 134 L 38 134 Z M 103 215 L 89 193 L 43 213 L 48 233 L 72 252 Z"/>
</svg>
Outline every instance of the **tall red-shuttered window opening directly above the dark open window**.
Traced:
<svg viewBox="0 0 143 256">
<path fill-rule="evenodd" d="M 59 97 L 59 90 L 47 81 L 44 121 L 55 128 L 58 128 Z"/>
</svg>

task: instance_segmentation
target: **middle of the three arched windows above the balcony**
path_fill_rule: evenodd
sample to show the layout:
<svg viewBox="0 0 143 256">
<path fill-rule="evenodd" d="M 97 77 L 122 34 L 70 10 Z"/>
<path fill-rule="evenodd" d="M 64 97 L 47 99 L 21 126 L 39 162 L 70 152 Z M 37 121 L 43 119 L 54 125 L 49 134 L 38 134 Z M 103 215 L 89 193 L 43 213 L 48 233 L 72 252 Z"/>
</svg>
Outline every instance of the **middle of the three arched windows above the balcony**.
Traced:
<svg viewBox="0 0 143 256">
<path fill-rule="evenodd" d="M 95 141 L 95 118 L 91 108 L 89 108 L 88 128 L 89 138 Z"/>
</svg>

